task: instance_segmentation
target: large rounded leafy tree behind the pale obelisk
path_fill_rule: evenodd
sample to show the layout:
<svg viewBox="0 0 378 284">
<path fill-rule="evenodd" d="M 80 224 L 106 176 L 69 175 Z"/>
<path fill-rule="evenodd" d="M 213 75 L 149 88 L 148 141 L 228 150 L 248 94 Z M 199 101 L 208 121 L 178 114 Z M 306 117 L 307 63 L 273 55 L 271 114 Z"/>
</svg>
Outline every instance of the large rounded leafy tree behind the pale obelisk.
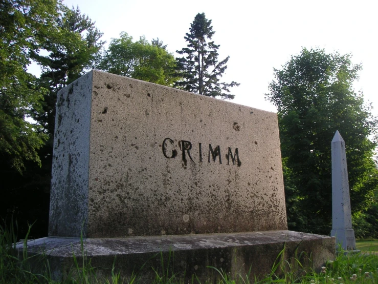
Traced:
<svg viewBox="0 0 378 284">
<path fill-rule="evenodd" d="M 336 130 L 345 140 L 351 208 L 367 209 L 378 188 L 373 160 L 377 120 L 352 88 L 360 65 L 350 55 L 303 49 L 292 56 L 266 97 L 277 107 L 288 227 L 329 234 L 331 151 Z"/>
</svg>

